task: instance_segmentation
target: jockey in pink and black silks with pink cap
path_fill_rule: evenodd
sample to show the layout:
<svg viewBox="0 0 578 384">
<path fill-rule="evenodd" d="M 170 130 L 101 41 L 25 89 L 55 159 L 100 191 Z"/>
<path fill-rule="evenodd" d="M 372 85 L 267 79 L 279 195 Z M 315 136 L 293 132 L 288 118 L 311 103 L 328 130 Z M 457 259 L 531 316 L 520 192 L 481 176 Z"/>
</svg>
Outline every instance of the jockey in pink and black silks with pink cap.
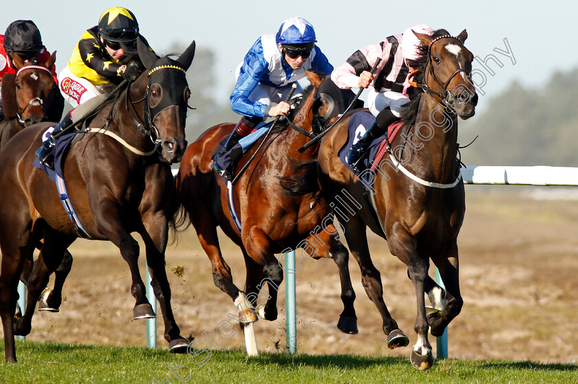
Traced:
<svg viewBox="0 0 578 384">
<path fill-rule="evenodd" d="M 400 119 L 402 106 L 409 102 L 408 60 L 418 58 L 418 47 L 421 44 L 412 30 L 430 36 L 434 33 L 427 25 L 414 25 L 403 34 L 389 36 L 380 43 L 358 49 L 331 74 L 331 80 L 341 89 L 369 87 L 367 103 L 376 117 L 365 135 L 347 153 L 345 159 L 350 166 L 363 156 L 374 139 L 383 135 L 390 124 Z M 381 58 L 381 63 L 372 75 L 370 70 L 377 58 Z M 361 170 L 358 169 L 358 172 Z"/>
</svg>

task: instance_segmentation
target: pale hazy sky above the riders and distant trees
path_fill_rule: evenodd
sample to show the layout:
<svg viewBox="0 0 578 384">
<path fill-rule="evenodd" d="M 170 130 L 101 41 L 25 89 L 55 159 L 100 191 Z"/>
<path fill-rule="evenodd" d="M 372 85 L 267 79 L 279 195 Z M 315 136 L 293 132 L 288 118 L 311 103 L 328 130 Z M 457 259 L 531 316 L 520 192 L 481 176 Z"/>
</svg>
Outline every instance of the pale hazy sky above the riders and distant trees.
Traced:
<svg viewBox="0 0 578 384">
<path fill-rule="evenodd" d="M 257 37 L 277 32 L 283 20 L 301 16 L 312 23 L 317 45 L 332 65 L 341 65 L 356 49 L 425 23 L 453 35 L 467 29 L 466 47 L 477 59 L 473 81 L 479 107 L 514 80 L 539 87 L 554 71 L 578 66 L 574 1 L 38 1 L 6 2 L 0 33 L 17 19 L 31 19 L 43 43 L 56 50 L 56 70 L 66 65 L 84 30 L 100 14 L 119 5 L 137 17 L 140 31 L 157 53 L 173 43 L 215 52 L 215 98 L 228 101 L 234 71 Z M 21 5 L 19 5 L 21 4 Z M 354 8 L 352 5 L 358 6 Z"/>
</svg>

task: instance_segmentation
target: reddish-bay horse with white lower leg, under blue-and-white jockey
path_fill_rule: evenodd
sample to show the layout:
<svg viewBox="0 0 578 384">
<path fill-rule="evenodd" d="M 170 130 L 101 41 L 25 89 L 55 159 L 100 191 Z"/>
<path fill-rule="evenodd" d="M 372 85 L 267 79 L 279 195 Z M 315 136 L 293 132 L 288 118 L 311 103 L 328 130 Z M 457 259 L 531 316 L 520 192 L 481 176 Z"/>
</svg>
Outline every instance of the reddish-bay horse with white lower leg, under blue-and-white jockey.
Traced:
<svg viewBox="0 0 578 384">
<path fill-rule="evenodd" d="M 313 91 L 321 83 L 321 78 L 312 73 L 308 73 L 308 78 L 312 87 L 306 89 L 292 122 L 310 134 L 313 131 Z M 323 103 L 319 115 L 324 115 L 330 104 L 319 101 Z M 339 267 L 344 306 L 338 328 L 356 333 L 355 294 L 347 269 L 349 255 L 336 240 L 337 231 L 330 207 L 319 196 L 305 190 L 289 192 L 290 180 L 286 179 L 295 174 L 296 164 L 303 165 L 317 157 L 319 144 L 299 153 L 298 149 L 310 137 L 283 124 L 281 129 L 271 131 L 261 147 L 256 143 L 245 154 L 238 168 L 242 168 L 253 153 L 256 152 L 257 156 L 239 177 L 232 192 L 235 210 L 239 214 L 239 233 L 228 210 L 226 181 L 211 168 L 211 153 L 234 127 L 235 124 L 213 126 L 191 144 L 180 163 L 176 183 L 180 201 L 213 265 L 215 285 L 231 296 L 239 309 L 248 354 L 257 354 L 252 326 L 257 321 L 257 314 L 267 320 L 277 319 L 277 289 L 283 280 L 283 270 L 274 253 L 284 253 L 288 249 L 303 247 L 307 257 L 333 258 Z M 256 149 L 258 147 L 260 149 Z M 315 171 L 314 167 L 311 169 Z M 309 176 L 309 180 L 317 185 L 314 172 Z M 307 178 L 306 175 L 303 177 Z M 231 269 L 222 258 L 217 225 L 241 247 L 246 264 L 244 291 L 233 284 Z M 268 301 L 265 306 L 257 306 L 257 296 L 265 282 L 268 283 Z"/>
</svg>

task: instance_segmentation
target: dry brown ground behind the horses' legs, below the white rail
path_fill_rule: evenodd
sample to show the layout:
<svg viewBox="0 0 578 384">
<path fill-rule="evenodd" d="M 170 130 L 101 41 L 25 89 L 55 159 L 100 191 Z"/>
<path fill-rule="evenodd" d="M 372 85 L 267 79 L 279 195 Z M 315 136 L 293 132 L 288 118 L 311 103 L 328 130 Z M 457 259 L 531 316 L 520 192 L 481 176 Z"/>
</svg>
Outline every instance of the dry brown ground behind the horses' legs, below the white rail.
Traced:
<svg viewBox="0 0 578 384">
<path fill-rule="evenodd" d="M 473 188 L 478 187 L 467 187 L 466 221 L 459 238 L 465 304 L 449 326 L 450 357 L 576 363 L 578 201 L 535 201 L 522 193 L 528 190 L 513 187 L 507 188 L 520 194 L 496 193 L 506 187 L 485 192 Z M 342 307 L 336 267 L 332 260 L 308 260 L 297 273 L 299 352 L 409 356 L 416 341 L 414 288 L 405 265 L 389 254 L 387 243 L 373 235 L 370 239 L 385 302 L 409 336 L 409 346 L 387 350 L 381 318 L 363 291 L 354 260 L 350 269 L 359 334 L 339 332 L 335 325 Z M 242 287 L 242 257 L 231 242 L 222 240 L 222 247 L 235 282 Z M 74 265 L 61 313 L 36 313 L 28 339 L 144 346 L 145 323 L 131 319 L 129 271 L 118 250 L 109 242 L 78 240 L 71 251 Z M 229 297 L 214 286 L 210 262 L 193 231 L 169 247 L 167 263 L 182 335 L 202 339 L 202 332 L 214 332 L 213 341 L 220 348 L 244 348 L 239 330 L 231 339 L 216 335 L 217 324 L 236 311 Z M 182 278 L 170 273 L 174 267 L 184 267 Z M 285 347 L 284 295 L 283 284 L 279 319 L 255 325 L 261 350 Z M 160 321 L 158 345 L 165 348 L 162 330 Z M 430 340 L 435 350 L 435 338 Z M 198 346 L 214 348 L 205 341 Z"/>
</svg>

